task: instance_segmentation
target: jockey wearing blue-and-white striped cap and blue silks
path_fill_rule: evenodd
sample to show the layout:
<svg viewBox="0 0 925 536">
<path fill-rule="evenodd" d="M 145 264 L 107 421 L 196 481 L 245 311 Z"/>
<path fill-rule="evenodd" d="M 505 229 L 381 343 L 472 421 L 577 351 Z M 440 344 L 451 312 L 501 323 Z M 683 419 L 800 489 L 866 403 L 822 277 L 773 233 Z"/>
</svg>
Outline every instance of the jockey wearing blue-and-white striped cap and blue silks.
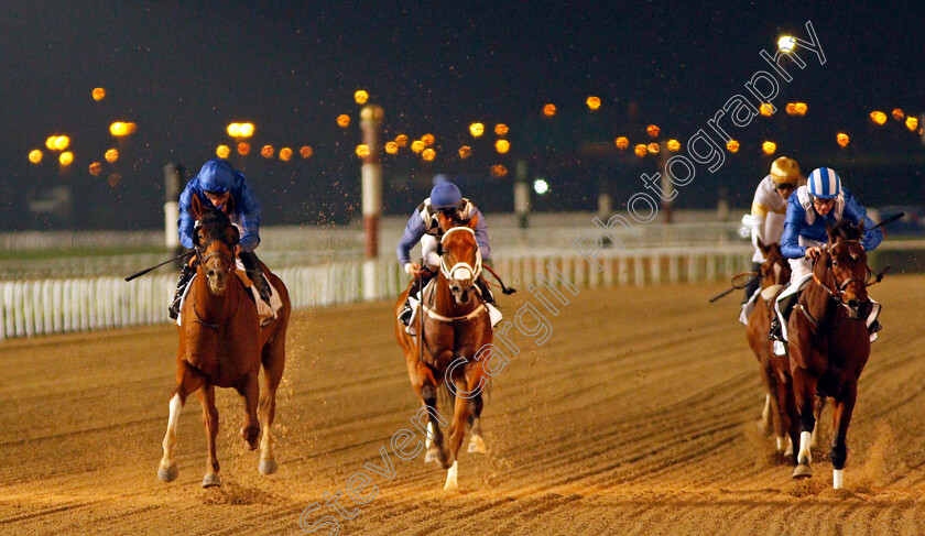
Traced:
<svg viewBox="0 0 925 536">
<path fill-rule="evenodd" d="M 867 210 L 855 196 L 841 187 L 841 178 L 835 169 L 814 169 L 807 184 L 791 194 L 787 201 L 781 252 L 790 259 L 793 273 L 790 286 L 777 297 L 777 314 L 771 321 L 769 338 L 775 341 L 783 340 L 781 322 L 786 322 L 796 303 L 797 291 L 813 275 L 809 260 L 818 259 L 823 254 L 821 247 L 828 241 L 826 226 L 834 226 L 840 218 L 847 218 L 855 225 L 864 222 L 864 236 L 861 240 L 864 251 L 874 250 L 883 241 L 883 231 L 875 228 L 873 221 L 868 218 Z M 877 311 L 879 313 L 879 306 Z M 872 337 L 880 330 L 880 322 L 875 320 L 875 316 L 869 329 Z"/>
</svg>

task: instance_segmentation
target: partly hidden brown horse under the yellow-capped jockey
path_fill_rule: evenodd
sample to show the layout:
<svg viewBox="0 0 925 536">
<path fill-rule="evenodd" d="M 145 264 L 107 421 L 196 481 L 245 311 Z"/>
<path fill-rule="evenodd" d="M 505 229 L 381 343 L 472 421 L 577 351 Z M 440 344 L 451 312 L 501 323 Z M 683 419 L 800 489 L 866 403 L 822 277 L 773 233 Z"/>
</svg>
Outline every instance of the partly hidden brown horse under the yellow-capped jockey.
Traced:
<svg viewBox="0 0 925 536">
<path fill-rule="evenodd" d="M 791 266 L 781 253 L 776 242 L 765 245 L 758 239 L 758 249 L 764 256 L 759 269 L 761 293 L 755 298 L 754 308 L 748 317 L 746 337 L 758 359 L 761 380 L 764 383 L 764 409 L 761 412 L 759 427 L 765 434 L 773 431 L 777 440 L 777 452 L 792 450 L 797 440 L 795 423 L 790 415 L 793 407 L 793 385 L 790 376 L 790 362 L 786 355 L 775 355 L 772 341 L 768 339 L 771 318 L 774 315 L 774 300 L 791 278 Z M 790 411 L 788 411 L 790 409 Z M 793 425 L 793 426 L 792 426 Z M 791 447 L 787 447 L 791 436 Z"/>
</svg>

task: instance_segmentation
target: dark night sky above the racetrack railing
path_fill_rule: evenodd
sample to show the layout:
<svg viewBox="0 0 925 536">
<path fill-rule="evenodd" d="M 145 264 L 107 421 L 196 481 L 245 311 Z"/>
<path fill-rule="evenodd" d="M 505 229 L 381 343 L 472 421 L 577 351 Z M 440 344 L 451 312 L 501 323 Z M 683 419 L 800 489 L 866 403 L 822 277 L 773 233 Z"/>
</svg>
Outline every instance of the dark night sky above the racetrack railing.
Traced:
<svg viewBox="0 0 925 536">
<path fill-rule="evenodd" d="M 406 149 L 383 158 L 387 211 L 410 211 L 435 173 L 459 177 L 488 211 L 511 210 L 518 158 L 552 185 L 540 209 L 595 210 L 599 189 L 619 207 L 655 160 L 619 154 L 616 136 L 649 142 L 645 125 L 655 123 L 684 143 L 727 99 L 748 95 L 742 86 L 753 73 L 769 69 L 761 50 L 775 52 L 784 33 L 808 39 L 807 20 L 827 62 L 801 53 L 807 67 L 774 100 L 807 102 L 807 116 L 781 111 L 739 129 L 741 151 L 727 154 L 719 172 L 704 169 L 678 205 L 714 206 L 725 188 L 747 206 L 773 160 L 760 151 L 765 139 L 804 173 L 833 165 L 868 205 L 925 203 L 919 136 L 892 118 L 883 127 L 868 118 L 897 107 L 925 112 L 925 4 L 698 3 L 504 2 L 489 11 L 461 2 L 4 2 L 0 229 L 155 228 L 164 164 L 195 174 L 218 144 L 231 144 L 225 128 L 241 120 L 257 125 L 255 149 L 232 163 L 257 190 L 265 223 L 357 218 L 357 89 L 384 107 L 387 140 L 437 140 L 433 163 Z M 106 99 L 92 100 L 95 87 Z M 588 96 L 600 97 L 600 110 L 588 110 Z M 548 102 L 558 113 L 546 119 Z M 335 122 L 341 113 L 352 119 L 347 129 Z M 116 120 L 139 131 L 94 177 L 89 163 L 105 163 L 117 146 L 108 132 Z M 472 140 L 477 120 L 489 130 L 508 124 L 512 152 L 494 153 L 491 133 Z M 835 143 L 840 131 L 851 136 L 846 149 Z M 75 154 L 64 172 L 44 147 L 58 133 L 72 138 Z M 315 155 L 268 161 L 257 154 L 263 144 L 308 144 Z M 474 150 L 467 161 L 457 154 L 463 144 Z M 33 149 L 45 153 L 40 165 L 26 158 Z M 493 164 L 511 175 L 491 177 Z M 75 214 L 31 215 L 29 201 L 56 185 L 73 189 Z"/>
</svg>

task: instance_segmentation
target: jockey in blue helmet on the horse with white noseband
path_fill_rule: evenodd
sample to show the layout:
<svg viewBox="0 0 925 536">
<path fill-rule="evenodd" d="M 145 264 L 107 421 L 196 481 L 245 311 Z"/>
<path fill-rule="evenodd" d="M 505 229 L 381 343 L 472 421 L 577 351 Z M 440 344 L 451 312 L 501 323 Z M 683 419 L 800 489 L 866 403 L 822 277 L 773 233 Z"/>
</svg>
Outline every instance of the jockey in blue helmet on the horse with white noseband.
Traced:
<svg viewBox="0 0 925 536">
<path fill-rule="evenodd" d="M 416 296 L 421 288 L 423 288 L 431 278 L 436 275 L 440 266 L 440 258 L 437 254 L 437 244 L 440 241 L 440 226 L 437 221 L 438 212 L 451 212 L 454 219 L 466 222 L 478 216 L 476 222 L 476 243 L 479 245 L 479 252 L 482 259 L 488 259 L 491 253 L 491 247 L 488 242 L 488 226 L 485 222 L 485 216 L 481 211 L 472 205 L 471 201 L 463 197 L 459 188 L 449 182 L 437 183 L 431 190 L 431 197 L 424 199 L 424 203 L 417 206 L 414 214 L 407 220 L 404 234 L 399 240 L 396 253 L 399 255 L 399 263 L 404 267 L 404 271 L 414 277 L 409 288 L 409 297 Z M 411 262 L 411 249 L 421 242 L 421 254 L 424 258 L 426 271 L 421 264 Z M 421 275 L 421 277 L 417 277 Z M 496 318 L 500 320 L 501 314 L 494 307 L 494 296 L 488 288 L 488 284 L 479 276 L 476 285 L 481 292 L 482 298 L 489 308 L 492 317 L 492 325 L 497 324 Z M 399 319 L 405 326 L 412 317 L 412 307 L 409 300 L 405 300 L 404 308 L 399 314 Z"/>
</svg>

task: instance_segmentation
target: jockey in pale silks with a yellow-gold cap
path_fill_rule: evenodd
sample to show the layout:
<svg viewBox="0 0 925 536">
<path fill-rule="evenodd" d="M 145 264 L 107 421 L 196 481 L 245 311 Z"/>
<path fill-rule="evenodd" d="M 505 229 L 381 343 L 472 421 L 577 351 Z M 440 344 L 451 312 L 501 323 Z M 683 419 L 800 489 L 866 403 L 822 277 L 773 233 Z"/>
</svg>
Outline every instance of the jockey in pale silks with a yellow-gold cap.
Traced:
<svg viewBox="0 0 925 536">
<path fill-rule="evenodd" d="M 751 237 L 754 244 L 752 272 L 758 273 L 764 262 L 758 241 L 761 240 L 764 245 L 781 242 L 781 234 L 784 232 L 784 216 L 787 214 L 787 198 L 793 190 L 805 183 L 796 161 L 781 156 L 771 164 L 771 173 L 758 184 L 751 211 Z M 761 278 L 758 276 L 749 280 L 746 285 L 746 295 L 742 297 L 743 307 L 748 305 L 760 284 Z"/>
</svg>

